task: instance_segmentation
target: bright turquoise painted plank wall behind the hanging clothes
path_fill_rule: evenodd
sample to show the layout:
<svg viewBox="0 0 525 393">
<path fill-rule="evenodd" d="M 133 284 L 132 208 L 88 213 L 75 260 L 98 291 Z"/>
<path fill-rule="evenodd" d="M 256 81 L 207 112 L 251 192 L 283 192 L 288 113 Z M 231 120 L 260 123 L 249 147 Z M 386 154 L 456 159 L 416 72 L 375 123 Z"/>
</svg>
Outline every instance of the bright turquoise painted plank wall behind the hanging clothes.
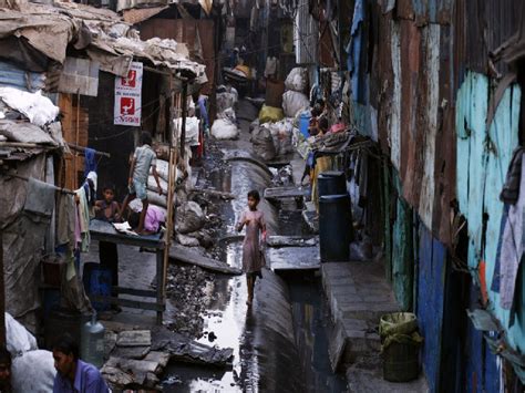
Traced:
<svg viewBox="0 0 525 393">
<path fill-rule="evenodd" d="M 518 121 L 522 92 L 517 85 L 505 91 L 493 123 L 485 125 L 488 103 L 488 79 L 470 72 L 457 92 L 457 197 L 460 210 L 469 220 L 469 267 L 477 280 L 477 266 L 486 263 L 486 283 L 494 277 L 503 203 L 498 195 L 503 187 L 512 152 L 518 144 Z M 483 237 L 483 215 L 486 234 Z M 485 239 L 485 244 L 482 244 Z M 525 325 L 518 318 L 508 328 L 508 311 L 500 307 L 500 294 L 488 291 L 488 308 L 507 330 L 515 349 L 525 351 Z"/>
</svg>

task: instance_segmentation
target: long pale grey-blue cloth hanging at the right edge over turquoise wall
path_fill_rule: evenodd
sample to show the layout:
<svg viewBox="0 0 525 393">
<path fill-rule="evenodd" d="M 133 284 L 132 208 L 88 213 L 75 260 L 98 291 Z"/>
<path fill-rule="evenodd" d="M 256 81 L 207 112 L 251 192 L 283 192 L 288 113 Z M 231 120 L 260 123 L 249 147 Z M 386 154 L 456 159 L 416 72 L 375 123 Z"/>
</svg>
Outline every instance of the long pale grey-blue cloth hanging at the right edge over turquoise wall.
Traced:
<svg viewBox="0 0 525 393">
<path fill-rule="evenodd" d="M 524 208 L 525 208 L 525 161 L 522 159 L 521 182 L 518 185 L 518 198 L 515 205 L 508 208 L 508 218 L 503 232 L 500 256 L 501 275 L 501 306 L 509 310 L 516 289 L 516 277 L 523 256 L 524 235 Z"/>
</svg>

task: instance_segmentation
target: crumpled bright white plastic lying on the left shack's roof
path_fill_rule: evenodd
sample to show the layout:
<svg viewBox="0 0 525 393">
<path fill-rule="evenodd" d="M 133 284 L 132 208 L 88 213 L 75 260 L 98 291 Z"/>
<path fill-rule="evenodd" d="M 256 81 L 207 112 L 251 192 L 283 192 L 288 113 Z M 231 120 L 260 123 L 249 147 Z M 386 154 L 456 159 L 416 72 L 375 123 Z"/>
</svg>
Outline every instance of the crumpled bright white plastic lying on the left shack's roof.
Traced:
<svg viewBox="0 0 525 393">
<path fill-rule="evenodd" d="M 59 107 L 50 99 L 37 93 L 22 92 L 13 87 L 0 87 L 0 97 L 13 110 L 23 113 L 31 123 L 44 126 L 59 115 Z"/>
</svg>

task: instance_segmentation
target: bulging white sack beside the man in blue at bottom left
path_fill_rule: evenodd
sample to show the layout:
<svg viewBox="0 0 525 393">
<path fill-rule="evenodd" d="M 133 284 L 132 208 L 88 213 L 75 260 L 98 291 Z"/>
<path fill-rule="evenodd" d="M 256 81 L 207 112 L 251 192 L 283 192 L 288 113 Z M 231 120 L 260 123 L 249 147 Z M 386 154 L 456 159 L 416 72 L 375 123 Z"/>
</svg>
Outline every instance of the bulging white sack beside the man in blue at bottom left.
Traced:
<svg viewBox="0 0 525 393">
<path fill-rule="evenodd" d="M 11 386 L 13 392 L 52 392 L 55 374 L 52 352 L 29 351 L 13 359 Z"/>
</svg>

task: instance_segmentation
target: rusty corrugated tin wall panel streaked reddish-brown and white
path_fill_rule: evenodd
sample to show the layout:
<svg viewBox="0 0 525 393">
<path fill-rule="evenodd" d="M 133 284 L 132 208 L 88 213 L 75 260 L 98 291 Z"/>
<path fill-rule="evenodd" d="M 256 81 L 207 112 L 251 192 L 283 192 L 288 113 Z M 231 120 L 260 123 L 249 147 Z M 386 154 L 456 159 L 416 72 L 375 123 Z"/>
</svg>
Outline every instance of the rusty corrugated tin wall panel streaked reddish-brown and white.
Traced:
<svg viewBox="0 0 525 393">
<path fill-rule="evenodd" d="M 453 30 L 393 13 L 382 14 L 378 23 L 381 148 L 400 173 L 403 197 L 449 245 L 455 199 Z"/>
</svg>

